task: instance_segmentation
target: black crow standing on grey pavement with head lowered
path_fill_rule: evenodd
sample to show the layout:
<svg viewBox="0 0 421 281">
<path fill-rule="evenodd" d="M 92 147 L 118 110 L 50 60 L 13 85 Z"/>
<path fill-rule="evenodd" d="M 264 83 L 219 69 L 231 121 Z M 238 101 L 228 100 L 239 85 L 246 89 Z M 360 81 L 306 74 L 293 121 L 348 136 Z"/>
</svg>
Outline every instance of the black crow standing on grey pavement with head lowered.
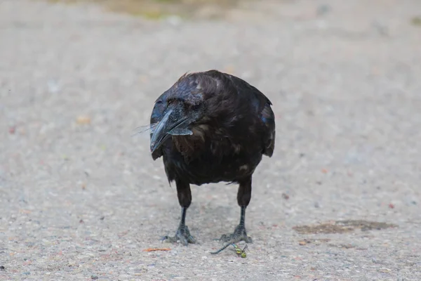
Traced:
<svg viewBox="0 0 421 281">
<path fill-rule="evenodd" d="M 175 181 L 181 221 L 168 242 L 195 243 L 185 225 L 192 202 L 190 184 L 239 183 L 240 223 L 220 240 L 252 242 L 246 234 L 246 207 L 253 172 L 262 155 L 272 157 L 275 118 L 270 100 L 230 74 L 209 70 L 184 74 L 155 101 L 151 116 L 152 159 L 163 157 L 168 182 Z"/>
</svg>

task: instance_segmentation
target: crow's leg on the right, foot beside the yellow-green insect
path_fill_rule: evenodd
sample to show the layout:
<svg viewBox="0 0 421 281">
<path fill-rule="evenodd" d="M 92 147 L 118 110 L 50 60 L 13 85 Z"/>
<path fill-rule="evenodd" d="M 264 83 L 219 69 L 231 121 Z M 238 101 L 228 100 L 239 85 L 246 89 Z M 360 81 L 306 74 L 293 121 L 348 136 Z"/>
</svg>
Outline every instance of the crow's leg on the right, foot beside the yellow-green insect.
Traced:
<svg viewBox="0 0 421 281">
<path fill-rule="evenodd" d="M 251 237 L 247 236 L 246 233 L 246 208 L 248 203 L 250 203 L 251 199 L 251 176 L 248 178 L 239 181 L 239 192 L 237 193 L 237 202 L 241 207 L 241 216 L 240 216 L 240 223 L 236 226 L 234 233 L 229 235 L 222 235 L 220 237 L 220 241 L 227 242 L 229 244 L 238 243 L 240 241 L 244 241 L 246 243 L 251 243 Z"/>
</svg>

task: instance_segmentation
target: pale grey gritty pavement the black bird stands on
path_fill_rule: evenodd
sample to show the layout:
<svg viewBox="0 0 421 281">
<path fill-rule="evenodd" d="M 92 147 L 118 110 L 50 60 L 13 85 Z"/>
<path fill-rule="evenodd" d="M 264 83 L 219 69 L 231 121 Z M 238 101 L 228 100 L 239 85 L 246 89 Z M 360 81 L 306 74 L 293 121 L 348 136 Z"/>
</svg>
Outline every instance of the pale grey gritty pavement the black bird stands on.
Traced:
<svg viewBox="0 0 421 281">
<path fill-rule="evenodd" d="M 420 12 L 417 0 L 264 1 L 148 22 L 2 0 L 0 279 L 421 280 Z M 239 220 L 235 185 L 193 186 L 200 244 L 161 244 L 176 191 L 148 134 L 132 136 L 181 74 L 213 68 L 257 86 L 277 118 L 246 259 L 209 254 Z"/>
</svg>

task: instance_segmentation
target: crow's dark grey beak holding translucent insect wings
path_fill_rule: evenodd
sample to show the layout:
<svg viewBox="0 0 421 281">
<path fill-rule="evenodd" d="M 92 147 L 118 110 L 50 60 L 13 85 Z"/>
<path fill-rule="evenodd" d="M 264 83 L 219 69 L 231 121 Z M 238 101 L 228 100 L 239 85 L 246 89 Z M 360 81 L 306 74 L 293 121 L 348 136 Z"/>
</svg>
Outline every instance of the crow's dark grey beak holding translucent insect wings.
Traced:
<svg viewBox="0 0 421 281">
<path fill-rule="evenodd" d="M 154 153 L 171 135 L 185 136 L 191 135 L 192 131 L 187 129 L 189 118 L 180 116 L 180 111 L 176 108 L 169 108 L 161 121 L 152 131 L 151 152 Z"/>
</svg>

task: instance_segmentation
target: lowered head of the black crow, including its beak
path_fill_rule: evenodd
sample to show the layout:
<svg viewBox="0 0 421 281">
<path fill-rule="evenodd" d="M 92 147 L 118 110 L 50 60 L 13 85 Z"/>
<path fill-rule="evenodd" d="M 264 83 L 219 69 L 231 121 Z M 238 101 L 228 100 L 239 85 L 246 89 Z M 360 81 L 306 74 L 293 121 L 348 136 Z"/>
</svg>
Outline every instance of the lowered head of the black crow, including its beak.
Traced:
<svg viewBox="0 0 421 281">
<path fill-rule="evenodd" d="M 194 74 L 182 76 L 155 101 L 151 116 L 152 155 L 171 136 L 192 135 L 195 122 L 204 116 L 206 98 Z"/>
</svg>

